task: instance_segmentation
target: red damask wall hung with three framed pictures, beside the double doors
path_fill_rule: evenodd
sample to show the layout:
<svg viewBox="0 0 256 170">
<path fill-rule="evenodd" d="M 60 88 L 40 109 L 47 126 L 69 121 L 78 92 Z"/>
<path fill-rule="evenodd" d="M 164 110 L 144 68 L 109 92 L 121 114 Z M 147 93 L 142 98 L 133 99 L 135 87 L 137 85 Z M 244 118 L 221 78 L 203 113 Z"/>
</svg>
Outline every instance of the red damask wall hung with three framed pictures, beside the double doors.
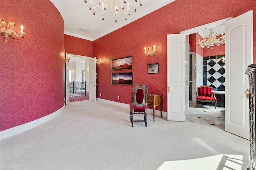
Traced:
<svg viewBox="0 0 256 170">
<path fill-rule="evenodd" d="M 211 8 L 204 10 L 207 6 Z M 130 71 L 134 72 L 134 84 L 148 84 L 150 93 L 163 94 L 163 111 L 167 111 L 166 35 L 180 33 L 230 16 L 234 18 L 249 10 L 254 10 L 255 39 L 256 1 L 254 0 L 176 0 L 93 41 L 93 56 L 104 61 L 101 67 L 97 66 L 97 98 L 130 104 L 132 86 L 111 85 L 110 75 L 117 72 L 111 71 L 111 59 L 133 55 L 134 68 Z M 156 45 L 156 56 L 151 59 L 146 57 L 143 51 L 144 47 L 153 45 Z M 158 74 L 147 73 L 147 64 L 153 63 L 159 63 Z M 254 43 L 254 63 L 256 63 L 256 43 Z M 120 96 L 119 100 L 117 96 Z"/>
</svg>

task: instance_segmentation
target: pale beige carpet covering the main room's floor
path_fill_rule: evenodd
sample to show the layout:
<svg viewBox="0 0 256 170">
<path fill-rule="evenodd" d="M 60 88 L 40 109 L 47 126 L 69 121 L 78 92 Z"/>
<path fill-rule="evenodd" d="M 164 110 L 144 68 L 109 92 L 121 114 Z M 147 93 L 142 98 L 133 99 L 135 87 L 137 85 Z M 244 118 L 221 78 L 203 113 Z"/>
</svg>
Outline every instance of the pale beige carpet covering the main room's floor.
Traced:
<svg viewBox="0 0 256 170">
<path fill-rule="evenodd" d="M 248 156 L 249 141 L 221 129 L 152 114 L 132 127 L 129 108 L 90 100 L 0 141 L 1 170 L 246 170 Z"/>
</svg>

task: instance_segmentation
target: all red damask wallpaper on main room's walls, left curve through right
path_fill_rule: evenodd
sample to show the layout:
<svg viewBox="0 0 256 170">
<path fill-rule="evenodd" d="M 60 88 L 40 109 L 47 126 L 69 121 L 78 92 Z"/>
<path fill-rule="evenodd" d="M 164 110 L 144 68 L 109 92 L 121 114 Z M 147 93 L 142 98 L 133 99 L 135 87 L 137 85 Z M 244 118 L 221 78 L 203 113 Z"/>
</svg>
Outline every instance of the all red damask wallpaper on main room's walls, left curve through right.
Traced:
<svg viewBox="0 0 256 170">
<path fill-rule="evenodd" d="M 16 27 L 23 24 L 26 35 L 25 39 L 9 39 L 7 43 L 0 37 L 1 131 L 53 113 L 64 105 L 65 51 L 101 58 L 104 64 L 97 66 L 97 98 L 125 104 L 130 104 L 132 86 L 111 85 L 111 73 L 118 72 L 111 71 L 111 59 L 133 55 L 134 68 L 128 71 L 134 72 L 134 84 L 148 84 L 150 93 L 163 94 L 163 111 L 167 111 L 168 34 L 254 10 L 256 39 L 255 0 L 176 0 L 93 42 L 64 36 L 64 21 L 50 0 L 15 1 L 19 5 L 10 2 L 1 0 L 0 17 L 15 22 Z M 211 8 L 203 10 L 207 6 Z M 156 56 L 151 59 L 143 51 L 153 45 Z M 153 63 L 159 64 L 158 74 L 147 73 L 147 65 Z"/>
</svg>

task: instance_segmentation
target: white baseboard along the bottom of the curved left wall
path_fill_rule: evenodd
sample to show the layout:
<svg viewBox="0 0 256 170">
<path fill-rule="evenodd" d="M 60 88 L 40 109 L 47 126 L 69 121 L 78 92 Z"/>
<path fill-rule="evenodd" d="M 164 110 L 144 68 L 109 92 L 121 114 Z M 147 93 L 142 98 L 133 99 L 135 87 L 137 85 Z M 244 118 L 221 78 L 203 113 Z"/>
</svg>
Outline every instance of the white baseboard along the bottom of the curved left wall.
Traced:
<svg viewBox="0 0 256 170">
<path fill-rule="evenodd" d="M 46 115 L 46 116 L 41 117 L 39 119 L 36 119 L 34 121 L 30 121 L 30 122 L 25 123 L 23 125 L 19 125 L 19 126 L 16 126 L 16 127 L 12 127 L 10 129 L 6 129 L 4 131 L 0 131 L 0 140 L 11 137 L 13 135 L 17 135 L 19 133 L 22 133 L 24 131 L 32 129 L 32 128 L 38 126 L 38 125 L 41 125 L 41 124 L 55 118 L 56 116 L 60 115 L 60 113 L 62 113 L 64 111 L 64 109 L 65 109 L 65 104 L 62 108 L 58 109 L 57 111 L 55 111 L 55 112 L 53 112 L 49 115 Z"/>
</svg>

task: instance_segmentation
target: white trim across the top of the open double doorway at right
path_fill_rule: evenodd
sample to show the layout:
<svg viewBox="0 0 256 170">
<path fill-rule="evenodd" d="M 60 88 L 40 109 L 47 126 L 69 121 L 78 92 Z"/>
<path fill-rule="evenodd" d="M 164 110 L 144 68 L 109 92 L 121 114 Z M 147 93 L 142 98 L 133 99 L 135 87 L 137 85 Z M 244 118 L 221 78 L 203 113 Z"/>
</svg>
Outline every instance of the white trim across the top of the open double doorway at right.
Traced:
<svg viewBox="0 0 256 170">
<path fill-rule="evenodd" d="M 225 18 L 223 20 L 218 20 L 218 21 L 215 21 L 215 22 L 207 23 L 205 25 L 201 25 L 201 26 L 198 26 L 198 27 L 187 29 L 185 31 L 181 31 L 180 33 L 185 34 L 185 35 L 190 35 L 190 34 L 193 34 L 193 33 L 197 33 L 198 31 L 202 31 L 203 29 L 210 29 L 210 28 L 214 28 L 214 27 L 219 27 L 219 26 L 225 25 L 226 21 L 231 20 L 232 18 L 233 17 L 229 17 L 229 18 Z"/>
</svg>

